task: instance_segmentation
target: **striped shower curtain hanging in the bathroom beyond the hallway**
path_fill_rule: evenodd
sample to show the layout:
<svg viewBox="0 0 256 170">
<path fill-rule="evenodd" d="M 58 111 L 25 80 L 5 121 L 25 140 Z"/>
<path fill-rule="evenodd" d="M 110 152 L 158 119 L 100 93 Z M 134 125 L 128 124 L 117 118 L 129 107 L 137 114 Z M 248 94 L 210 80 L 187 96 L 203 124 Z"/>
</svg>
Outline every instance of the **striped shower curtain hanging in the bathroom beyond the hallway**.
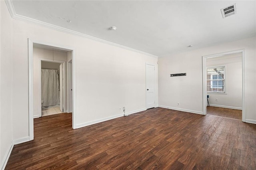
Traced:
<svg viewBox="0 0 256 170">
<path fill-rule="evenodd" d="M 42 69 L 42 103 L 43 107 L 60 104 L 60 83 L 58 79 L 57 70 Z"/>
</svg>

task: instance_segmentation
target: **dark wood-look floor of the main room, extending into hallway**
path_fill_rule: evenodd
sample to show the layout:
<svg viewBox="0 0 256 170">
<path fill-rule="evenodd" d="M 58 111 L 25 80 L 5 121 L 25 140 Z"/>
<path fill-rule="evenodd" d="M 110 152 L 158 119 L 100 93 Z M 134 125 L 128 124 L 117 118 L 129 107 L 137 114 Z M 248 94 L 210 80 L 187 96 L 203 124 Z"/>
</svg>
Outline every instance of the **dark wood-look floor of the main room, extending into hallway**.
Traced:
<svg viewBox="0 0 256 170">
<path fill-rule="evenodd" d="M 75 130 L 71 114 L 41 117 L 34 138 L 6 170 L 256 169 L 256 125 L 163 108 Z"/>
</svg>

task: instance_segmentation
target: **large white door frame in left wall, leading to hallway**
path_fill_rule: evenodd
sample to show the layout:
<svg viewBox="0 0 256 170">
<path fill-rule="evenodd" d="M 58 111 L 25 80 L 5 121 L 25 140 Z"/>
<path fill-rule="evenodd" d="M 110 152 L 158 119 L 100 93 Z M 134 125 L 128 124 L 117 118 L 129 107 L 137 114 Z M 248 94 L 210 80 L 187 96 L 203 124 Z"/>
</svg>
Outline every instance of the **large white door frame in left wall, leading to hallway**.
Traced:
<svg viewBox="0 0 256 170">
<path fill-rule="evenodd" d="M 54 47 L 56 49 L 64 49 L 66 51 L 72 52 L 72 85 L 73 85 L 73 95 L 72 95 L 72 128 L 76 127 L 76 49 L 73 47 L 68 47 L 64 45 L 56 45 L 47 42 L 34 41 L 28 38 L 28 128 L 29 128 L 29 140 L 34 139 L 34 101 L 33 101 L 33 44 L 42 44 Z"/>
</svg>

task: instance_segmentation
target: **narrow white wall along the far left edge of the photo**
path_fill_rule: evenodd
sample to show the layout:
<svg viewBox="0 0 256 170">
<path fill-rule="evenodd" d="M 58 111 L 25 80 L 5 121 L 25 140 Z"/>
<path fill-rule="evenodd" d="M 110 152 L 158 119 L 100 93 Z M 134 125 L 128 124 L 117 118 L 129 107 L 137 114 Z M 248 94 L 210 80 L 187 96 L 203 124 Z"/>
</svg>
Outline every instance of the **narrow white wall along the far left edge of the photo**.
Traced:
<svg viewBox="0 0 256 170">
<path fill-rule="evenodd" d="M 13 147 L 12 18 L 4 1 L 0 1 L 0 51 L 0 168 L 4 169 Z"/>
</svg>

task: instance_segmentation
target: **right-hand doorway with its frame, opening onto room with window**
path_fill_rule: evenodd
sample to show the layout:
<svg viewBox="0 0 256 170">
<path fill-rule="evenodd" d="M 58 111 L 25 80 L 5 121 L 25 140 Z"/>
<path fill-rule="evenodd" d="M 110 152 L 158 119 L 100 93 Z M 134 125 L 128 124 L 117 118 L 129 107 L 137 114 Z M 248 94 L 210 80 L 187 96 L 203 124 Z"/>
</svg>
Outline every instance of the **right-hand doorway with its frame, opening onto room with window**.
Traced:
<svg viewBox="0 0 256 170">
<path fill-rule="evenodd" d="M 203 113 L 245 122 L 244 49 L 203 56 Z"/>
</svg>

